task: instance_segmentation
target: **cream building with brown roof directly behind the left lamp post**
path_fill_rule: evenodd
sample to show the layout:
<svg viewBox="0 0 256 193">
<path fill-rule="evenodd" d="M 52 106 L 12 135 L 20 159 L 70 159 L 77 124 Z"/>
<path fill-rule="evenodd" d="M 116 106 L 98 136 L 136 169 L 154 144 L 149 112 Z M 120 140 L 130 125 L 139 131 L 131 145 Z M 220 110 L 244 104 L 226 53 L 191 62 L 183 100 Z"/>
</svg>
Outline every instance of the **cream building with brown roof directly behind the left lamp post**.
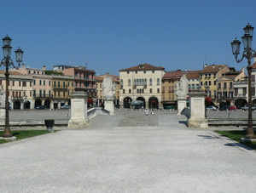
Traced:
<svg viewBox="0 0 256 193">
<path fill-rule="evenodd" d="M 0 86 L 5 90 L 5 71 L 0 71 Z M 17 71 L 9 71 L 9 104 L 14 109 L 32 108 L 32 77 Z"/>
</svg>

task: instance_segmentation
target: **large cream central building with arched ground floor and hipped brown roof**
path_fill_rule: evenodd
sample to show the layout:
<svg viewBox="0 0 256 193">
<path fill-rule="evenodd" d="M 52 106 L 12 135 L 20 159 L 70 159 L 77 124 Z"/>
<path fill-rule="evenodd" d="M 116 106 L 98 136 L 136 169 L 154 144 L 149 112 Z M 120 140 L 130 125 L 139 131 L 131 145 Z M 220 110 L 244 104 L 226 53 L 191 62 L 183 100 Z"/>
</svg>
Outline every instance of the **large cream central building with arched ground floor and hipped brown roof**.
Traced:
<svg viewBox="0 0 256 193">
<path fill-rule="evenodd" d="M 162 107 L 161 80 L 165 68 L 142 64 L 119 70 L 119 103 L 131 108 L 131 101 L 143 101 L 144 108 Z"/>
</svg>

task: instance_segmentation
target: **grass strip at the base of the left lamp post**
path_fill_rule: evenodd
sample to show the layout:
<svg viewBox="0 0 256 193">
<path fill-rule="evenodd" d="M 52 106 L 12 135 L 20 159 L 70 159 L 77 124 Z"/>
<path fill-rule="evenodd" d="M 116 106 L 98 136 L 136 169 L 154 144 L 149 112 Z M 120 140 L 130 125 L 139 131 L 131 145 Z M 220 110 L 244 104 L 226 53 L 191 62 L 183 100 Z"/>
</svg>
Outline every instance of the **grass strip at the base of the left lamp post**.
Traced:
<svg viewBox="0 0 256 193">
<path fill-rule="evenodd" d="M 11 133 L 13 133 L 13 135 L 16 137 L 16 140 L 20 140 L 20 139 L 26 139 L 26 138 L 32 138 L 41 134 L 47 134 L 47 133 L 51 133 L 49 131 L 46 130 L 17 130 L 17 131 L 11 131 Z M 3 131 L 0 132 L 0 136 L 3 135 Z M 6 140 L 0 140 L 0 144 L 4 144 L 4 143 L 8 143 L 9 141 Z"/>
</svg>

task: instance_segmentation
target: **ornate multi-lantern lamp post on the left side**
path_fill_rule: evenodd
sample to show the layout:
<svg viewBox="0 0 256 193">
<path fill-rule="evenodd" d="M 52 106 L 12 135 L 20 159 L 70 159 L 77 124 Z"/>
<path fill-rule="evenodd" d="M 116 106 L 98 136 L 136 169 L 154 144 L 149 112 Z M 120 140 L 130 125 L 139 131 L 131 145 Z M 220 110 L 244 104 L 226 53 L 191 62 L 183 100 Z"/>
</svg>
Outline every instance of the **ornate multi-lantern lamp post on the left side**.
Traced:
<svg viewBox="0 0 256 193">
<path fill-rule="evenodd" d="M 3 38 L 3 60 L 1 60 L 1 65 L 5 66 L 5 128 L 4 128 L 4 133 L 3 133 L 3 138 L 11 138 L 13 135 L 10 133 L 10 128 L 9 128 L 9 66 L 13 66 L 14 62 L 11 60 L 11 49 L 12 47 L 10 46 L 12 39 L 9 36 L 6 36 Z M 23 57 L 23 51 L 18 48 L 15 51 L 15 56 L 16 56 L 16 62 L 19 64 L 22 62 L 22 57 Z M 18 67 L 18 68 L 19 68 Z"/>
</svg>

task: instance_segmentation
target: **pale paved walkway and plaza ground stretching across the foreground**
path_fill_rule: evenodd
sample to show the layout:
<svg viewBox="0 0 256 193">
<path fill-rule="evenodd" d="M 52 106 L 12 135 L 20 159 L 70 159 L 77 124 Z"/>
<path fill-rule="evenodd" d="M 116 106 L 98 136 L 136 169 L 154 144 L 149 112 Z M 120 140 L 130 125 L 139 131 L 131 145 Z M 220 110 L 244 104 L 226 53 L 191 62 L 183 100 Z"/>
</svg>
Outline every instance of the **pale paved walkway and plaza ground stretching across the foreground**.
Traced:
<svg viewBox="0 0 256 193">
<path fill-rule="evenodd" d="M 118 110 L 88 128 L 0 145 L 1 192 L 255 192 L 255 151 L 185 122 L 175 111 Z"/>
</svg>

